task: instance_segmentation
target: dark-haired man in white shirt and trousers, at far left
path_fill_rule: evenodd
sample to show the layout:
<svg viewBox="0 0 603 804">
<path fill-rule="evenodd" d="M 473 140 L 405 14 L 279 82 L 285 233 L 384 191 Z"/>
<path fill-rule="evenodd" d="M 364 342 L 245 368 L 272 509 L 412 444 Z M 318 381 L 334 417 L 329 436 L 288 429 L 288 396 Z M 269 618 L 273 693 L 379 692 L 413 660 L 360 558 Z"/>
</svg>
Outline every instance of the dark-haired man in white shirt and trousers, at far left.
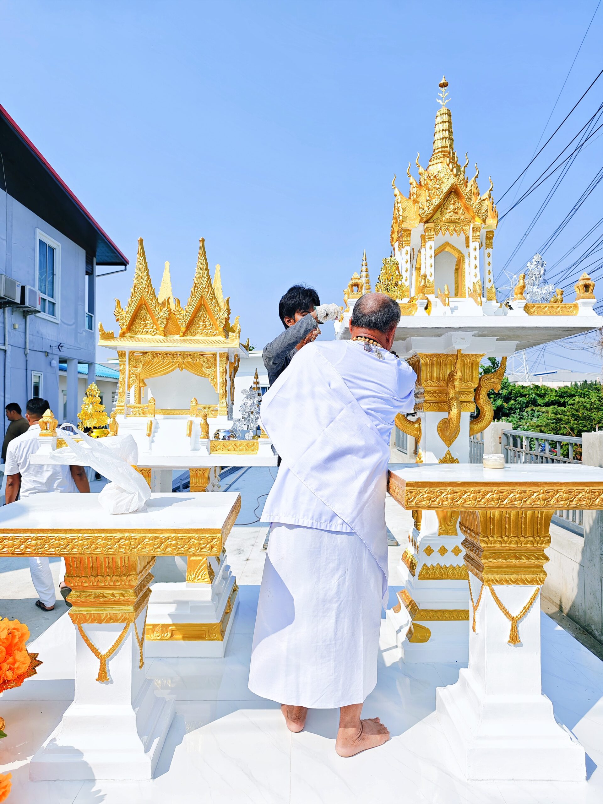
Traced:
<svg viewBox="0 0 603 804">
<path fill-rule="evenodd" d="M 62 493 L 89 493 L 90 486 L 83 466 L 53 466 L 51 464 L 33 464 L 30 457 L 39 448 L 39 420 L 49 408 L 47 400 L 34 397 L 29 400 L 25 416 L 29 429 L 10 441 L 6 449 L 6 505 L 14 503 L 19 494 L 22 498 L 31 494 L 42 494 L 45 491 Z M 61 562 L 61 578 L 64 577 L 63 561 Z M 51 611 L 55 607 L 55 585 L 52 580 L 50 562 L 47 557 L 30 559 L 31 580 L 38 593 L 39 600 L 35 605 L 43 611 Z M 67 598 L 71 589 L 61 580 L 61 594 Z"/>
</svg>

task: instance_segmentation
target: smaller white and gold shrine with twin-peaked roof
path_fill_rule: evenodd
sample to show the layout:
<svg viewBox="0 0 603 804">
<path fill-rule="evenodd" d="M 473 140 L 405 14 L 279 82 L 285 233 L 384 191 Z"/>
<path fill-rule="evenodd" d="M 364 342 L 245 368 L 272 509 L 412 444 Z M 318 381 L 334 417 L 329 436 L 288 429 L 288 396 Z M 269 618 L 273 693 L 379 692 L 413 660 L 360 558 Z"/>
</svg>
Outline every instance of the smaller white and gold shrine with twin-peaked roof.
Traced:
<svg viewBox="0 0 603 804">
<path fill-rule="evenodd" d="M 239 318 L 231 323 L 219 265 L 211 281 L 199 240 L 195 279 L 186 306 L 172 294 L 166 263 L 159 293 L 150 279 L 142 238 L 127 306 L 116 302 L 119 332 L 102 324 L 100 346 L 117 350 L 119 386 L 114 427 L 131 434 L 138 468 L 151 489 L 171 492 L 173 473 L 189 470 L 192 492 L 219 491 L 224 466 L 276 466 L 267 438 L 223 441 L 233 411 L 235 377 L 248 359 Z M 232 630 L 237 585 L 226 551 L 189 557 L 185 582 L 153 586 L 146 620 L 153 657 L 222 656 Z"/>
</svg>

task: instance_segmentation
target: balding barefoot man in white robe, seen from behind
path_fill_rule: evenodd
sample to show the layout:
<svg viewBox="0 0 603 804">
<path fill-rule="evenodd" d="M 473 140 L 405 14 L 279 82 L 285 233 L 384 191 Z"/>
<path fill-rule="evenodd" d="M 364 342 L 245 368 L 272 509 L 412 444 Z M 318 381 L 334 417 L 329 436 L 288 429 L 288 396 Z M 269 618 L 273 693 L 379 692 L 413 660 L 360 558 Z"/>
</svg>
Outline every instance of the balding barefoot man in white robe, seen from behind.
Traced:
<svg viewBox="0 0 603 804">
<path fill-rule="evenodd" d="M 282 462 L 262 515 L 271 533 L 249 689 L 278 701 L 292 732 L 308 708 L 340 708 L 341 757 L 389 739 L 360 713 L 388 593 L 389 441 L 396 413 L 414 407 L 416 375 L 390 351 L 399 321 L 396 301 L 367 293 L 351 340 L 303 347 L 261 406 Z"/>
</svg>

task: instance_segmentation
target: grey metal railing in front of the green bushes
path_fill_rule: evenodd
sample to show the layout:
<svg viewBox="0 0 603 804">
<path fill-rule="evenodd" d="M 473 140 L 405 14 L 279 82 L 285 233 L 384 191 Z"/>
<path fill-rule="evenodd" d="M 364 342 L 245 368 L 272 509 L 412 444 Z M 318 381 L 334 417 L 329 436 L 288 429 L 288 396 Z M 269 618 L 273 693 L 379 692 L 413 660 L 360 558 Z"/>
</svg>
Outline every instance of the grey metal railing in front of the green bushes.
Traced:
<svg viewBox="0 0 603 804">
<path fill-rule="evenodd" d="M 582 463 L 582 439 L 573 436 L 503 430 L 501 444 L 505 463 Z M 555 511 L 552 522 L 580 536 L 585 535 L 581 510 Z"/>
</svg>

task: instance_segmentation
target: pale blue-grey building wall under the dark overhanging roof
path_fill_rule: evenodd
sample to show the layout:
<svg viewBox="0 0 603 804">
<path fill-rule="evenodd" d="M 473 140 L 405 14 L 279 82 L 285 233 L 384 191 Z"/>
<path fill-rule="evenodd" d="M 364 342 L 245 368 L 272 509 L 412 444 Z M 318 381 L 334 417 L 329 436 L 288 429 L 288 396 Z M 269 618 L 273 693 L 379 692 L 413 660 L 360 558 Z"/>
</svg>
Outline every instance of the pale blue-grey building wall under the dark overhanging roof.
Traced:
<svg viewBox="0 0 603 804">
<path fill-rule="evenodd" d="M 9 188 L 10 189 L 10 188 Z M 6 273 L 22 285 L 36 287 L 36 229 L 60 244 L 58 291 L 59 320 L 41 315 L 27 316 L 14 308 L 0 311 L 0 412 L 6 429 L 4 406 L 18 402 L 22 408 L 31 397 L 31 375 L 43 375 L 42 395 L 50 402 L 59 421 L 59 359 L 80 363 L 95 362 L 95 330 L 86 329 L 86 255 L 62 232 L 51 227 L 16 199 L 0 190 L 0 273 Z M 26 354 L 26 334 L 29 350 Z M 5 339 L 6 338 L 6 339 Z M 52 363 L 55 363 L 53 366 Z M 77 388 L 72 391 L 76 404 Z"/>
</svg>

